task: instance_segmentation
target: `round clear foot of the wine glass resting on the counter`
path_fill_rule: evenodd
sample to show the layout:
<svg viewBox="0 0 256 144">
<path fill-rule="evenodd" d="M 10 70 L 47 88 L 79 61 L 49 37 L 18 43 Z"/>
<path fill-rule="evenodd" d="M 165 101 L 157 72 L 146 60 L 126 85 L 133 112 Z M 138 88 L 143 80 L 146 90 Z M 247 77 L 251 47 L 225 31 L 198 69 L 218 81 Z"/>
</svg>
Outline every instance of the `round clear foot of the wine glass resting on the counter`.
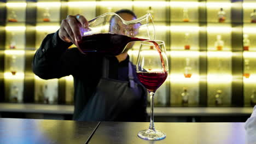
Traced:
<svg viewBox="0 0 256 144">
<path fill-rule="evenodd" d="M 165 139 L 166 134 L 159 130 L 141 130 L 138 132 L 138 137 L 144 140 L 162 140 Z"/>
</svg>

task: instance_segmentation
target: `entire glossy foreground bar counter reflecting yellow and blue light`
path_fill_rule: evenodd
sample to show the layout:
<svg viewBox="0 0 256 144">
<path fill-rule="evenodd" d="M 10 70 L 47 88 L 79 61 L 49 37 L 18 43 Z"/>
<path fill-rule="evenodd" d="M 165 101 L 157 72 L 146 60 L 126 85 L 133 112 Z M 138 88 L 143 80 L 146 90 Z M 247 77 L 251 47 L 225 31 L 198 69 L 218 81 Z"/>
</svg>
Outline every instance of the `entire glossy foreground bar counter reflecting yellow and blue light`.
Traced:
<svg viewBox="0 0 256 144">
<path fill-rule="evenodd" d="M 160 144 L 246 143 L 245 123 L 155 123 L 166 133 L 160 141 L 142 140 L 142 122 L 77 122 L 40 119 L 0 118 L 0 143 L 76 143 L 76 144 Z"/>
</svg>

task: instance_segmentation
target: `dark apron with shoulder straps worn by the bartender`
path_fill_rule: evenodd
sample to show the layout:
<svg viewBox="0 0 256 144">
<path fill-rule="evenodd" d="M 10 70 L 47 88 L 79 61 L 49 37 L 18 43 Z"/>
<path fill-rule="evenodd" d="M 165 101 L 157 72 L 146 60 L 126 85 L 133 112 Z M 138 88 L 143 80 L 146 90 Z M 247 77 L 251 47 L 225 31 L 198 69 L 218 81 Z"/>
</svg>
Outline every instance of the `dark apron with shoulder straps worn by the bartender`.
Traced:
<svg viewBox="0 0 256 144">
<path fill-rule="evenodd" d="M 89 98 L 78 121 L 144 121 L 145 91 L 135 83 L 129 62 L 129 82 L 108 78 L 109 60 L 103 58 L 102 78 Z"/>
</svg>

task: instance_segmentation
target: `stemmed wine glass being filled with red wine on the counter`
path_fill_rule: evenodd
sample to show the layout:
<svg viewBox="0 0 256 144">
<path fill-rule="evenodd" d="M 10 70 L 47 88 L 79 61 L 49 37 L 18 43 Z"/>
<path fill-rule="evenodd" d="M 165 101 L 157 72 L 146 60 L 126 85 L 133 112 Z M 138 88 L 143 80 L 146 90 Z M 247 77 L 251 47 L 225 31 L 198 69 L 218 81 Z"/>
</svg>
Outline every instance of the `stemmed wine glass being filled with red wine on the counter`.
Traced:
<svg viewBox="0 0 256 144">
<path fill-rule="evenodd" d="M 142 85 L 150 95 L 149 129 L 138 132 L 138 137 L 145 140 L 162 140 L 166 134 L 154 127 L 154 95 L 168 75 L 168 60 L 164 41 L 141 41 L 137 58 L 136 73 Z"/>
</svg>

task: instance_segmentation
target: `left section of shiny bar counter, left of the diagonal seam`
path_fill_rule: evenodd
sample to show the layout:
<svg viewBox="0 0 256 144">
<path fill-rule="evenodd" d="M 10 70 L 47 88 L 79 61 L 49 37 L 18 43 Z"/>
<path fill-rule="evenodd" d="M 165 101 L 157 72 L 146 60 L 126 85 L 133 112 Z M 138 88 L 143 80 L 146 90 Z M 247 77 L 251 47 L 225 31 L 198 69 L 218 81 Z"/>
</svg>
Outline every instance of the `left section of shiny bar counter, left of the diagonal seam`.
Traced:
<svg viewBox="0 0 256 144">
<path fill-rule="evenodd" d="M 0 118 L 1 144 L 84 144 L 100 122 Z"/>
</svg>

